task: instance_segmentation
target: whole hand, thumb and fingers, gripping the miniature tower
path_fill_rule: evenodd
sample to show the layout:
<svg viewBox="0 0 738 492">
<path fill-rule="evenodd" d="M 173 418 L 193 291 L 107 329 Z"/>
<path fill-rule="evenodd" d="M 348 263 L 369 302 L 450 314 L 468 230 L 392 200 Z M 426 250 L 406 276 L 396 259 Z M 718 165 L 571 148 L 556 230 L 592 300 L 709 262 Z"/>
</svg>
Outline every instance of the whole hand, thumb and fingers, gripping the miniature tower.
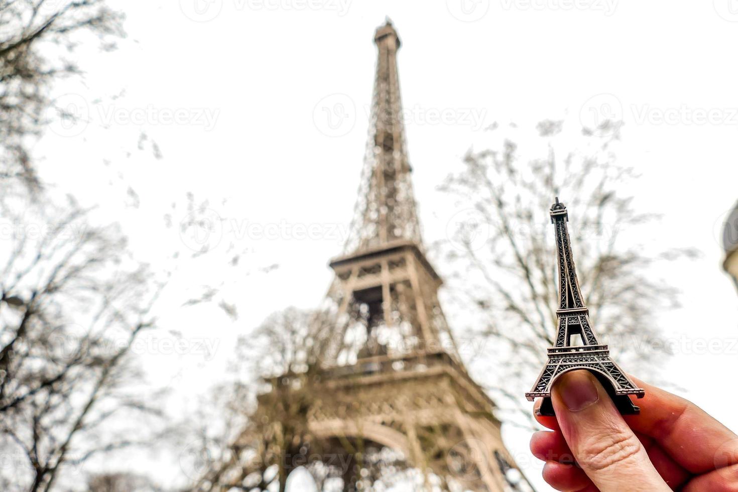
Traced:
<svg viewBox="0 0 738 492">
<path fill-rule="evenodd" d="M 551 431 L 531 438 L 545 481 L 559 491 L 738 492 L 736 434 L 693 403 L 633 380 L 646 396 L 641 414 L 627 416 L 586 370 L 556 381 L 556 417 L 536 417 Z"/>
</svg>

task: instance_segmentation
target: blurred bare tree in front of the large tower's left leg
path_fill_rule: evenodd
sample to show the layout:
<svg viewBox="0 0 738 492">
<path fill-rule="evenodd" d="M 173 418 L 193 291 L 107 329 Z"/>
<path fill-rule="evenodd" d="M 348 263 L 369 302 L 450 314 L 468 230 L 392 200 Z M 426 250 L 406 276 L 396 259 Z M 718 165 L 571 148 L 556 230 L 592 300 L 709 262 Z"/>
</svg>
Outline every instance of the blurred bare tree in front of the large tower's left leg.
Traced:
<svg viewBox="0 0 738 492">
<path fill-rule="evenodd" d="M 218 406 L 225 412 L 217 426 L 201 426 L 194 441 L 197 466 L 192 468 L 199 469 L 193 490 L 266 490 L 272 483 L 284 490 L 288 455 L 300 452 L 300 445 L 294 449 L 293 443 L 308 440 L 315 362 L 308 328 L 311 316 L 289 308 L 239 339 L 232 363 L 234 378 L 215 389 Z M 272 384 L 275 392 L 270 391 Z M 304 398 L 287 398 L 286 392 L 298 386 L 304 389 L 300 391 Z M 269 395 L 269 402 L 264 395 Z"/>
</svg>

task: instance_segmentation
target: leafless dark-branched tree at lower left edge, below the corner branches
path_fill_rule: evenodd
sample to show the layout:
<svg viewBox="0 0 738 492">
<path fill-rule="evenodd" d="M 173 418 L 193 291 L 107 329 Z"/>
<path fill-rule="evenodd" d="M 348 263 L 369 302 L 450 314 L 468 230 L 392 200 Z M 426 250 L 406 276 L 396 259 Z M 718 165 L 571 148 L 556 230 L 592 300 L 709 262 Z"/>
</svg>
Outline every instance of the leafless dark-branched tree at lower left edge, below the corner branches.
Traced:
<svg viewBox="0 0 738 492">
<path fill-rule="evenodd" d="M 15 457 L 1 479 L 49 491 L 91 457 L 151 439 L 140 424 L 158 415 L 156 395 L 135 390 L 131 347 L 154 326 L 161 284 L 71 200 L 6 189 L 0 207 L 0 446 Z"/>
</svg>

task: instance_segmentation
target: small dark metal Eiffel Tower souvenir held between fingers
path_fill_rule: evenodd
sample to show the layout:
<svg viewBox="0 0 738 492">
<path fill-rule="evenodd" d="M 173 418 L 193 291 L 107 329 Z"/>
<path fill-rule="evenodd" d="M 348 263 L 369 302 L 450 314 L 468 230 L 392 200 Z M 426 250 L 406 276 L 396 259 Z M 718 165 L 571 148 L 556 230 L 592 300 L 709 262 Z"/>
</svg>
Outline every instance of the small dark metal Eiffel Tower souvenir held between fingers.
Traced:
<svg viewBox="0 0 738 492">
<path fill-rule="evenodd" d="M 638 388 L 610 358 L 607 345 L 600 344 L 592 331 L 589 310 L 576 280 L 576 268 L 571 254 L 571 243 L 567 221 L 569 215 L 564 204 L 556 198 L 551 207 L 551 223 L 556 226 L 556 250 L 559 259 L 559 328 L 556 331 L 556 347 L 548 349 L 548 362 L 541 371 L 536 384 L 525 393 L 529 401 L 542 397 L 543 402 L 537 410 L 539 415 L 554 415 L 551 404 L 551 387 L 556 378 L 570 370 L 586 369 L 595 375 L 607 389 L 610 398 L 621 414 L 637 414 L 630 396 L 644 397 L 644 390 Z M 573 344 L 573 339 L 581 344 Z"/>
</svg>

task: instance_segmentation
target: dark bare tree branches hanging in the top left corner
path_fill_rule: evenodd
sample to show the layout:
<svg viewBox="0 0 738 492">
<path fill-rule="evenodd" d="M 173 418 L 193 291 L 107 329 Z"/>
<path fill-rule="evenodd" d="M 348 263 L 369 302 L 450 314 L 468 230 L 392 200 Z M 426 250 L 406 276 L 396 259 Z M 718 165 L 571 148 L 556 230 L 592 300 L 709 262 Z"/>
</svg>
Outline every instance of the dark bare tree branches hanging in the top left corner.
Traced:
<svg viewBox="0 0 738 492">
<path fill-rule="evenodd" d="M 86 38 L 113 49 L 122 20 L 104 0 L 0 0 L 0 179 L 38 187 L 30 139 L 49 119 L 75 117 L 52 87 L 80 74 L 71 55 Z"/>
</svg>

